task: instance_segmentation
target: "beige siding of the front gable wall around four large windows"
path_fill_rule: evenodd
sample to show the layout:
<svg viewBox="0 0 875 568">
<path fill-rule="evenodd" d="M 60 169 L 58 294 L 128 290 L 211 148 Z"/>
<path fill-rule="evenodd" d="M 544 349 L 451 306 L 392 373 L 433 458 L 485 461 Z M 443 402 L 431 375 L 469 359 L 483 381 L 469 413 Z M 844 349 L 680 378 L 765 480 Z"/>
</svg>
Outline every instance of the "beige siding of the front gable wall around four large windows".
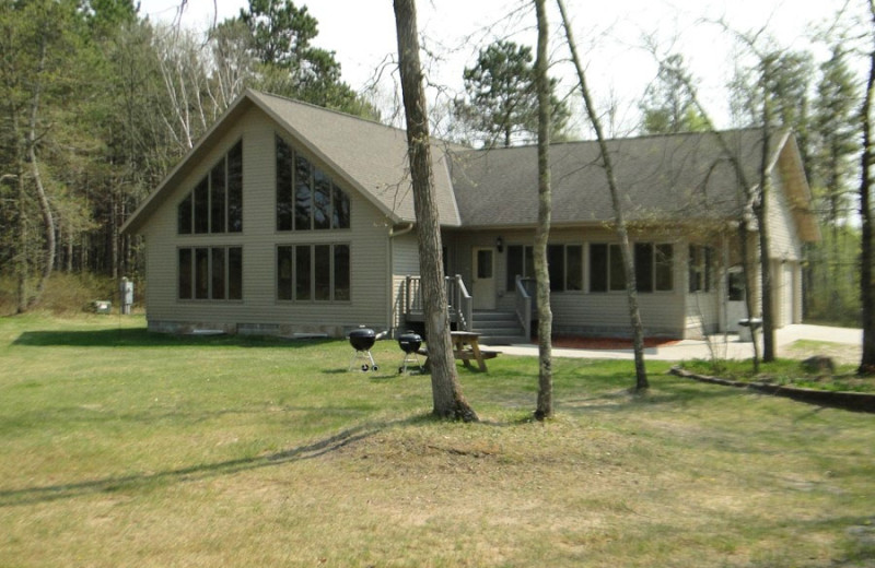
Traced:
<svg viewBox="0 0 875 568">
<path fill-rule="evenodd" d="M 384 216 L 362 196 L 342 189 L 351 200 L 351 228 L 279 233 L 276 230 L 275 143 L 279 127 L 258 110 L 250 110 L 215 141 L 208 157 L 187 176 L 153 214 L 147 237 L 147 315 L 153 329 L 191 327 L 228 331 L 275 333 L 322 332 L 340 335 L 366 324 L 388 327 L 389 299 L 387 229 Z M 176 208 L 237 140 L 243 139 L 243 233 L 177 235 Z M 287 140 L 296 149 L 301 145 Z M 327 171 L 324 164 L 307 156 Z M 351 300 L 341 303 L 280 301 L 276 297 L 276 248 L 294 244 L 349 244 Z M 192 246 L 243 247 L 243 300 L 177 299 L 177 248 Z"/>
</svg>

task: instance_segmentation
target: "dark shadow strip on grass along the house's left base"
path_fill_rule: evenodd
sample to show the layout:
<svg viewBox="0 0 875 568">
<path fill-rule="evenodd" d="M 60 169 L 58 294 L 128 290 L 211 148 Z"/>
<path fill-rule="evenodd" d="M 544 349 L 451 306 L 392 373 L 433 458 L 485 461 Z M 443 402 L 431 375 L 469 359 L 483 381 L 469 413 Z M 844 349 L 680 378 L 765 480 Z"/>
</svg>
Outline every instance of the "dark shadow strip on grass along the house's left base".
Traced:
<svg viewBox="0 0 875 568">
<path fill-rule="evenodd" d="M 341 340 L 290 340 L 270 335 L 178 335 L 147 328 L 25 331 L 13 345 L 32 347 L 306 347 Z"/>
</svg>

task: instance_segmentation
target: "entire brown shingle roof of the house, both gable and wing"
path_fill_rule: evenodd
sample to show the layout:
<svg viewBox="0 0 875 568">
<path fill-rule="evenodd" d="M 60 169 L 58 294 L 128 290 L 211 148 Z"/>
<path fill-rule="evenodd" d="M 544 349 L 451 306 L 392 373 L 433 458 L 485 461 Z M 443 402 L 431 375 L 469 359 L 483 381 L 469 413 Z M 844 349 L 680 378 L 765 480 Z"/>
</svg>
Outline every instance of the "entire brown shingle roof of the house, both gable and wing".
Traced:
<svg viewBox="0 0 875 568">
<path fill-rule="evenodd" d="M 326 163 L 393 223 L 413 222 L 413 200 L 404 130 L 305 103 L 247 91 L 198 141 L 122 227 L 137 232 L 163 197 L 210 150 L 210 141 L 253 106 L 285 129 L 304 150 Z M 723 132 L 747 181 L 756 185 L 761 159 L 758 130 Z M 791 151 L 788 152 L 788 147 Z M 713 133 L 685 133 L 608 141 L 623 208 L 629 221 L 737 218 L 742 209 L 736 174 Z M 781 151 L 784 151 L 783 153 Z M 535 226 L 537 222 L 537 149 L 521 146 L 469 150 L 433 140 L 435 197 L 444 226 Z M 779 155 L 796 156 L 791 200 L 803 238 L 816 238 L 807 211 L 810 191 L 792 137 L 773 138 L 770 164 Z M 550 149 L 552 223 L 586 224 L 614 220 L 614 209 L 598 144 L 555 144 Z M 798 187 L 796 187 L 798 186 Z"/>
</svg>

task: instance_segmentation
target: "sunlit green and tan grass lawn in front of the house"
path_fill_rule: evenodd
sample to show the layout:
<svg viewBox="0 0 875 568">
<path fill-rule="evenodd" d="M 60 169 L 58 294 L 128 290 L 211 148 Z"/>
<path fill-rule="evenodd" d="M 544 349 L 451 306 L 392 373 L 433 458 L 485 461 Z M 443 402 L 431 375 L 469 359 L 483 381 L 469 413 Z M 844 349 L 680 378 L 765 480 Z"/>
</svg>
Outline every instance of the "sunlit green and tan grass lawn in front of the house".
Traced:
<svg viewBox="0 0 875 568">
<path fill-rule="evenodd" d="M 346 341 L 0 319 L 0 566 L 875 566 L 875 416 L 650 363 L 347 372 Z"/>
</svg>

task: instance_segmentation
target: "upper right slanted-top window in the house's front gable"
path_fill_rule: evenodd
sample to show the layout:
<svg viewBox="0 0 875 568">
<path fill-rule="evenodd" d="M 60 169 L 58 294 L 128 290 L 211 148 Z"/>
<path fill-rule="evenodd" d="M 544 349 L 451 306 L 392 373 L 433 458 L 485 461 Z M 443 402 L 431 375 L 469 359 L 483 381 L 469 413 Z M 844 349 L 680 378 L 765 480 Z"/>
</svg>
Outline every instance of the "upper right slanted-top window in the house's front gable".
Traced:
<svg viewBox="0 0 875 568">
<path fill-rule="evenodd" d="M 277 230 L 349 228 L 349 197 L 325 171 L 277 141 Z"/>
</svg>

